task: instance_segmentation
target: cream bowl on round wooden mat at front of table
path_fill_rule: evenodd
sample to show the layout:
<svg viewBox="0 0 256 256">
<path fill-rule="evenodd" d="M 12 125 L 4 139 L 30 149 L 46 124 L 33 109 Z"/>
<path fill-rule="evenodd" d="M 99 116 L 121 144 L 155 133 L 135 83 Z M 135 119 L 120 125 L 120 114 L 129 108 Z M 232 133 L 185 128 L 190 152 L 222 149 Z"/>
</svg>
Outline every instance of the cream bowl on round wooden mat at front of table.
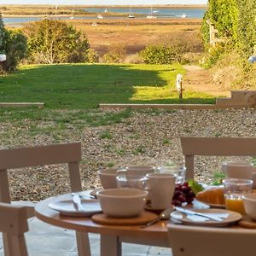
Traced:
<svg viewBox="0 0 256 256">
<path fill-rule="evenodd" d="M 129 218 L 143 212 L 148 191 L 141 189 L 102 189 L 96 195 L 102 212 L 111 217 Z"/>
</svg>

